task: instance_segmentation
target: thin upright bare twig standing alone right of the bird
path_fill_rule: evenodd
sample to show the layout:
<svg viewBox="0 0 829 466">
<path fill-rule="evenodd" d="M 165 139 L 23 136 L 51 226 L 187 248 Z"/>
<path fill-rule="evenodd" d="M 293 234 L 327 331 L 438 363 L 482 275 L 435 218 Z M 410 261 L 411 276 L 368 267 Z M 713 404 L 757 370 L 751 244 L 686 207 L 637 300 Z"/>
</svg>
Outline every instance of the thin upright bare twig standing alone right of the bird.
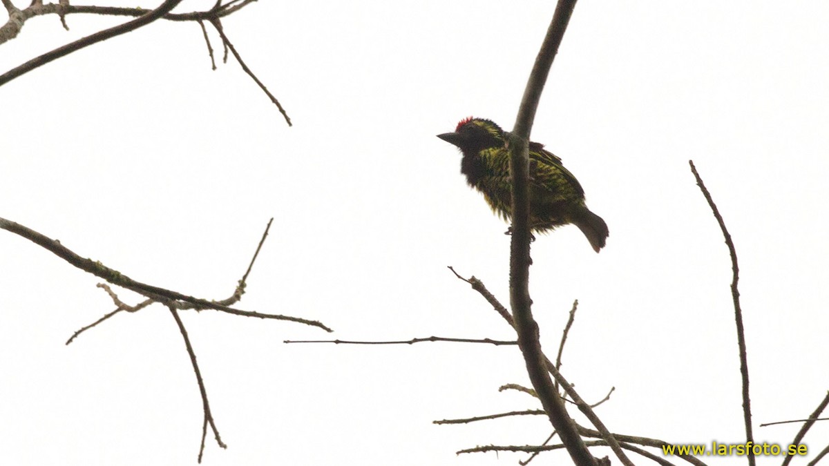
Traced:
<svg viewBox="0 0 829 466">
<path fill-rule="evenodd" d="M 720 211 L 717 209 L 717 206 L 714 203 L 714 199 L 711 198 L 711 194 L 705 187 L 705 183 L 702 182 L 700 173 L 696 172 L 694 161 L 689 160 L 688 163 L 691 165 L 691 172 L 694 173 L 694 177 L 696 178 L 696 185 L 700 187 L 702 195 L 705 196 L 705 201 L 708 201 L 708 206 L 710 206 L 711 211 L 714 212 L 714 216 L 717 219 L 717 223 L 720 224 L 720 230 L 723 231 L 723 236 L 725 236 L 725 245 L 728 246 L 728 251 L 731 255 L 731 269 L 733 271 L 733 275 L 731 278 L 731 299 L 734 301 L 734 321 L 737 324 L 737 347 L 739 348 L 739 373 L 742 376 L 743 381 L 743 420 L 745 423 L 745 439 L 748 442 L 754 442 L 754 434 L 752 434 L 751 429 L 751 399 L 749 398 L 749 359 L 746 356 L 745 349 L 743 309 L 739 307 L 739 290 L 737 289 L 737 282 L 739 281 L 737 250 L 734 249 L 734 242 L 731 241 L 731 235 L 725 228 L 725 221 L 723 220 L 723 217 L 720 216 Z M 748 457 L 749 466 L 754 466 L 754 453 L 750 450 Z"/>
</svg>

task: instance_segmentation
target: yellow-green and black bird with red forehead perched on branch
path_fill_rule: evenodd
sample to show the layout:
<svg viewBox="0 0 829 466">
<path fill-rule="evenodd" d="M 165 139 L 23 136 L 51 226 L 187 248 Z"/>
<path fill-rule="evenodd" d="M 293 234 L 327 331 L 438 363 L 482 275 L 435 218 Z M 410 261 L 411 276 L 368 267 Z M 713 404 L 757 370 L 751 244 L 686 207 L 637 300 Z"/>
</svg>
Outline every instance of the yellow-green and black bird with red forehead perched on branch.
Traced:
<svg viewBox="0 0 829 466">
<path fill-rule="evenodd" d="M 460 149 L 461 173 L 467 183 L 505 221 L 511 220 L 512 210 L 509 136 L 492 120 L 473 117 L 462 119 L 454 133 L 438 134 Z M 579 180 L 543 144 L 531 142 L 529 155 L 531 231 L 547 233 L 572 224 L 598 253 L 608 238 L 608 225 L 587 208 Z"/>
</svg>

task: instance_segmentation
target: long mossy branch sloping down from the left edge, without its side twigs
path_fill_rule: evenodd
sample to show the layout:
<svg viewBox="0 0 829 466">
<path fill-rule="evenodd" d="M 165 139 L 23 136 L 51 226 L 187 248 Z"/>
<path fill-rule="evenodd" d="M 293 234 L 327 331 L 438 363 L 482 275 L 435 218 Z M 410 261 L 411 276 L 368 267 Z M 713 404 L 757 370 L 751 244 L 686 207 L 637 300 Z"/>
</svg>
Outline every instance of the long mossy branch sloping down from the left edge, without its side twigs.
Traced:
<svg viewBox="0 0 829 466">
<path fill-rule="evenodd" d="M 241 309 L 230 308 L 229 306 L 225 306 L 223 304 L 216 303 L 213 301 L 208 301 L 206 299 L 194 298 L 192 296 L 187 296 L 186 294 L 178 293 L 177 291 L 163 289 L 149 284 L 143 284 L 141 282 L 130 279 L 128 276 L 124 274 L 121 274 L 118 270 L 110 269 L 109 267 L 101 264 L 100 262 L 80 257 L 80 255 L 75 254 L 75 252 L 73 252 L 72 250 L 69 250 L 64 245 L 61 245 L 60 241 L 51 240 L 50 238 L 47 238 L 45 235 L 41 235 L 37 231 L 27 228 L 26 226 L 22 226 L 16 222 L 6 220 L 4 218 L 0 218 L 0 229 L 11 231 L 12 233 L 21 235 L 22 237 L 32 241 L 36 245 L 41 245 L 44 249 L 51 251 L 51 253 L 57 255 L 66 262 L 69 262 L 70 265 L 74 265 L 78 269 L 89 272 L 90 274 L 94 274 L 95 276 L 104 279 L 111 284 L 118 285 L 125 289 L 131 289 L 134 292 L 138 294 L 143 294 L 144 296 L 150 299 L 154 299 L 159 302 L 172 305 L 174 308 L 177 307 L 177 304 L 187 303 L 191 305 L 192 308 L 196 309 L 214 309 L 217 311 L 222 311 L 225 313 L 231 313 L 245 317 L 287 320 L 289 322 L 303 323 L 305 325 L 311 325 L 313 327 L 322 328 L 327 332 L 332 332 L 330 328 L 327 328 L 325 325 L 315 320 L 308 320 L 305 318 L 297 318 L 293 316 L 284 316 L 280 314 L 258 313 L 255 311 L 245 311 Z M 170 301 L 172 301 L 172 303 L 170 303 Z"/>
</svg>

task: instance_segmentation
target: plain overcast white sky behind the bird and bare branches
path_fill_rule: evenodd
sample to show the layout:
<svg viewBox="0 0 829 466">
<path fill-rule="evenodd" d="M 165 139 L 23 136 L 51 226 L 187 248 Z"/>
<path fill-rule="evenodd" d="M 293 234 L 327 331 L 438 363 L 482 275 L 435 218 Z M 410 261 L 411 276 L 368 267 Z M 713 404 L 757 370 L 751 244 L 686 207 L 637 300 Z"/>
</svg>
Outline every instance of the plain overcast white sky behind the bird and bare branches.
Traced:
<svg viewBox="0 0 829 466">
<path fill-rule="evenodd" d="M 507 225 L 434 135 L 470 114 L 511 129 L 554 3 L 245 7 L 225 32 L 293 128 L 232 58 L 210 70 L 194 23 L 91 46 L 0 88 L 0 216 L 206 299 L 231 294 L 275 217 L 237 307 L 336 332 L 183 313 L 229 445 L 210 437 L 204 464 L 516 464 L 454 452 L 541 443 L 544 418 L 431 424 L 536 408 L 497 391 L 529 385 L 515 347 L 283 340 L 513 337 L 446 269 L 508 303 Z M 27 22 L 0 70 L 124 20 L 67 21 Z M 599 255 L 572 226 L 540 237 L 531 295 L 550 355 L 579 299 L 563 370 L 587 400 L 616 387 L 598 410 L 610 430 L 744 439 L 730 261 L 690 158 L 739 255 L 756 439 L 788 444 L 799 425 L 756 426 L 806 417 L 829 388 L 827 22 L 826 2 L 577 5 L 532 138 L 610 237 Z M 0 233 L 0 463 L 195 464 L 201 400 L 167 310 L 65 347 L 114 308 L 100 280 Z M 535 462 L 554 459 L 569 462 Z"/>
</svg>

